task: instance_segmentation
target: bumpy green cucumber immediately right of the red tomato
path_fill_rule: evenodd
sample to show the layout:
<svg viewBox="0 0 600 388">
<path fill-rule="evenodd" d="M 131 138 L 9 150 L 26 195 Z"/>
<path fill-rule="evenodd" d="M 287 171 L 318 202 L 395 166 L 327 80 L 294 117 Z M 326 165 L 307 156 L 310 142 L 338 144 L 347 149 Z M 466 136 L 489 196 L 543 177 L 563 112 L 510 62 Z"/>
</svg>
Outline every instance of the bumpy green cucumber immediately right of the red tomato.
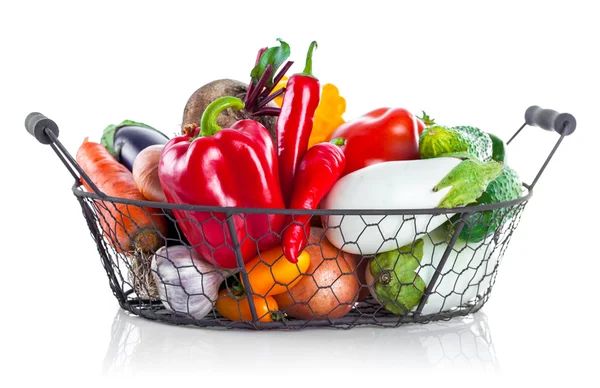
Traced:
<svg viewBox="0 0 600 388">
<path fill-rule="evenodd" d="M 446 154 L 465 154 L 482 162 L 492 160 L 492 139 L 476 127 L 427 127 L 419 137 L 421 158 L 436 158 Z"/>
</svg>

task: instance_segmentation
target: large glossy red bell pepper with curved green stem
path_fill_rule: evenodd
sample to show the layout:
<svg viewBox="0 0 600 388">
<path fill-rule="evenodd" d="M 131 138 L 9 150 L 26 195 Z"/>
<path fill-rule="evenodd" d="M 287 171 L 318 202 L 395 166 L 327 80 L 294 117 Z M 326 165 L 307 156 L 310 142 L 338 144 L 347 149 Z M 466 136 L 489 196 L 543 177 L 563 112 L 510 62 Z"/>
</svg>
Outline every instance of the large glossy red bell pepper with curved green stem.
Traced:
<svg viewBox="0 0 600 388">
<path fill-rule="evenodd" d="M 228 129 L 216 124 L 223 110 L 243 107 L 239 98 L 219 98 L 202 115 L 198 136 L 189 131 L 165 144 L 158 174 L 168 202 L 285 208 L 277 155 L 267 129 L 254 120 L 240 120 Z M 173 210 L 173 215 L 190 244 L 207 261 L 222 268 L 237 267 L 224 213 Z M 233 216 L 244 262 L 256 257 L 257 250 L 280 244 L 284 221 L 282 215 Z"/>
</svg>

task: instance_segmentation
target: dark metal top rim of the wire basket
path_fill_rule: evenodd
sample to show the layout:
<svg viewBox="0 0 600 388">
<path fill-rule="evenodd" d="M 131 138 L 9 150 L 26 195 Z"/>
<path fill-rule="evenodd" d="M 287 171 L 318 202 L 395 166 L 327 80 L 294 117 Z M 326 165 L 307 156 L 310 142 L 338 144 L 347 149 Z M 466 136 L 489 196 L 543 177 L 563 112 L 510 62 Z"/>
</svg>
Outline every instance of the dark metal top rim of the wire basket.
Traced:
<svg viewBox="0 0 600 388">
<path fill-rule="evenodd" d="M 90 198 L 99 201 L 120 203 L 125 205 L 134 205 L 141 207 L 150 207 L 156 209 L 184 210 L 184 211 L 202 211 L 211 213 L 227 214 L 285 214 L 285 215 L 353 215 L 353 216 L 381 216 L 381 215 L 441 215 L 441 214 L 464 214 L 475 213 L 488 210 L 497 210 L 508 208 L 524 202 L 527 202 L 533 195 L 533 190 L 527 184 L 521 187 L 526 191 L 517 199 L 498 202 L 493 204 L 463 206 L 456 208 L 429 208 L 429 209 L 282 209 L 282 208 L 243 208 L 243 207 L 222 207 L 222 206 L 204 206 L 187 205 L 178 203 L 141 201 L 127 198 L 104 196 L 101 197 L 94 192 L 87 192 L 82 189 L 83 185 L 75 181 L 72 187 L 73 194 L 77 197 Z"/>
</svg>

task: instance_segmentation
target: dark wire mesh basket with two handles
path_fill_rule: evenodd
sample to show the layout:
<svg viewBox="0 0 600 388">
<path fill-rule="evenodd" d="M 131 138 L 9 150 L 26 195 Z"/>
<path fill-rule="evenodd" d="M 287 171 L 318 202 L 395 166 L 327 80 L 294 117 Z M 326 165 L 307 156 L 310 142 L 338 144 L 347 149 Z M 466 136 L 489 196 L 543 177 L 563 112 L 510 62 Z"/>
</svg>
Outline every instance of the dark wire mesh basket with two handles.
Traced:
<svg viewBox="0 0 600 388">
<path fill-rule="evenodd" d="M 532 106 L 507 144 L 527 125 L 560 137 L 517 199 L 452 209 L 292 210 L 110 197 L 64 148 L 52 120 L 32 113 L 25 122 L 75 178 L 73 194 L 122 309 L 169 324 L 247 329 L 397 327 L 481 309 L 533 187 L 576 121 L 570 114 Z M 126 226 L 135 223 L 136 212 L 153 223 L 130 235 Z M 265 236 L 237 238 L 250 220 L 274 215 L 285 218 L 283 230 L 310 222 L 304 249 L 310 259 L 303 264 L 287 262 L 276 249 L 261 251 Z M 220 228 L 226 243 L 190 244 L 185 233 L 190 228 L 200 233 Z M 268 232 L 272 238 L 282 233 Z M 133 243 L 123 244 L 123 237 Z M 244 261 L 242 250 L 248 247 L 256 258 Z M 214 265 L 222 250 L 233 255 L 234 267 Z"/>
</svg>

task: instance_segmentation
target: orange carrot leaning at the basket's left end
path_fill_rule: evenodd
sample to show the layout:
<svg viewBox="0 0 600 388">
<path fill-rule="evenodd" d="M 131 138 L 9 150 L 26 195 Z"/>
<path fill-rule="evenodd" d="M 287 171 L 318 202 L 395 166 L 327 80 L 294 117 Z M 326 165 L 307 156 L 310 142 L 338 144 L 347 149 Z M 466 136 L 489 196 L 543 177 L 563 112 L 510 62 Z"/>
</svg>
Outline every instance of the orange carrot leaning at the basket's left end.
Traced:
<svg viewBox="0 0 600 388">
<path fill-rule="evenodd" d="M 104 194 L 124 199 L 144 201 L 133 174 L 119 163 L 100 143 L 84 139 L 76 160 L 91 181 Z M 84 187 L 91 188 L 81 179 Z M 167 223 L 160 209 L 94 200 L 98 219 L 110 244 L 118 251 L 156 251 L 167 234 Z"/>
</svg>

